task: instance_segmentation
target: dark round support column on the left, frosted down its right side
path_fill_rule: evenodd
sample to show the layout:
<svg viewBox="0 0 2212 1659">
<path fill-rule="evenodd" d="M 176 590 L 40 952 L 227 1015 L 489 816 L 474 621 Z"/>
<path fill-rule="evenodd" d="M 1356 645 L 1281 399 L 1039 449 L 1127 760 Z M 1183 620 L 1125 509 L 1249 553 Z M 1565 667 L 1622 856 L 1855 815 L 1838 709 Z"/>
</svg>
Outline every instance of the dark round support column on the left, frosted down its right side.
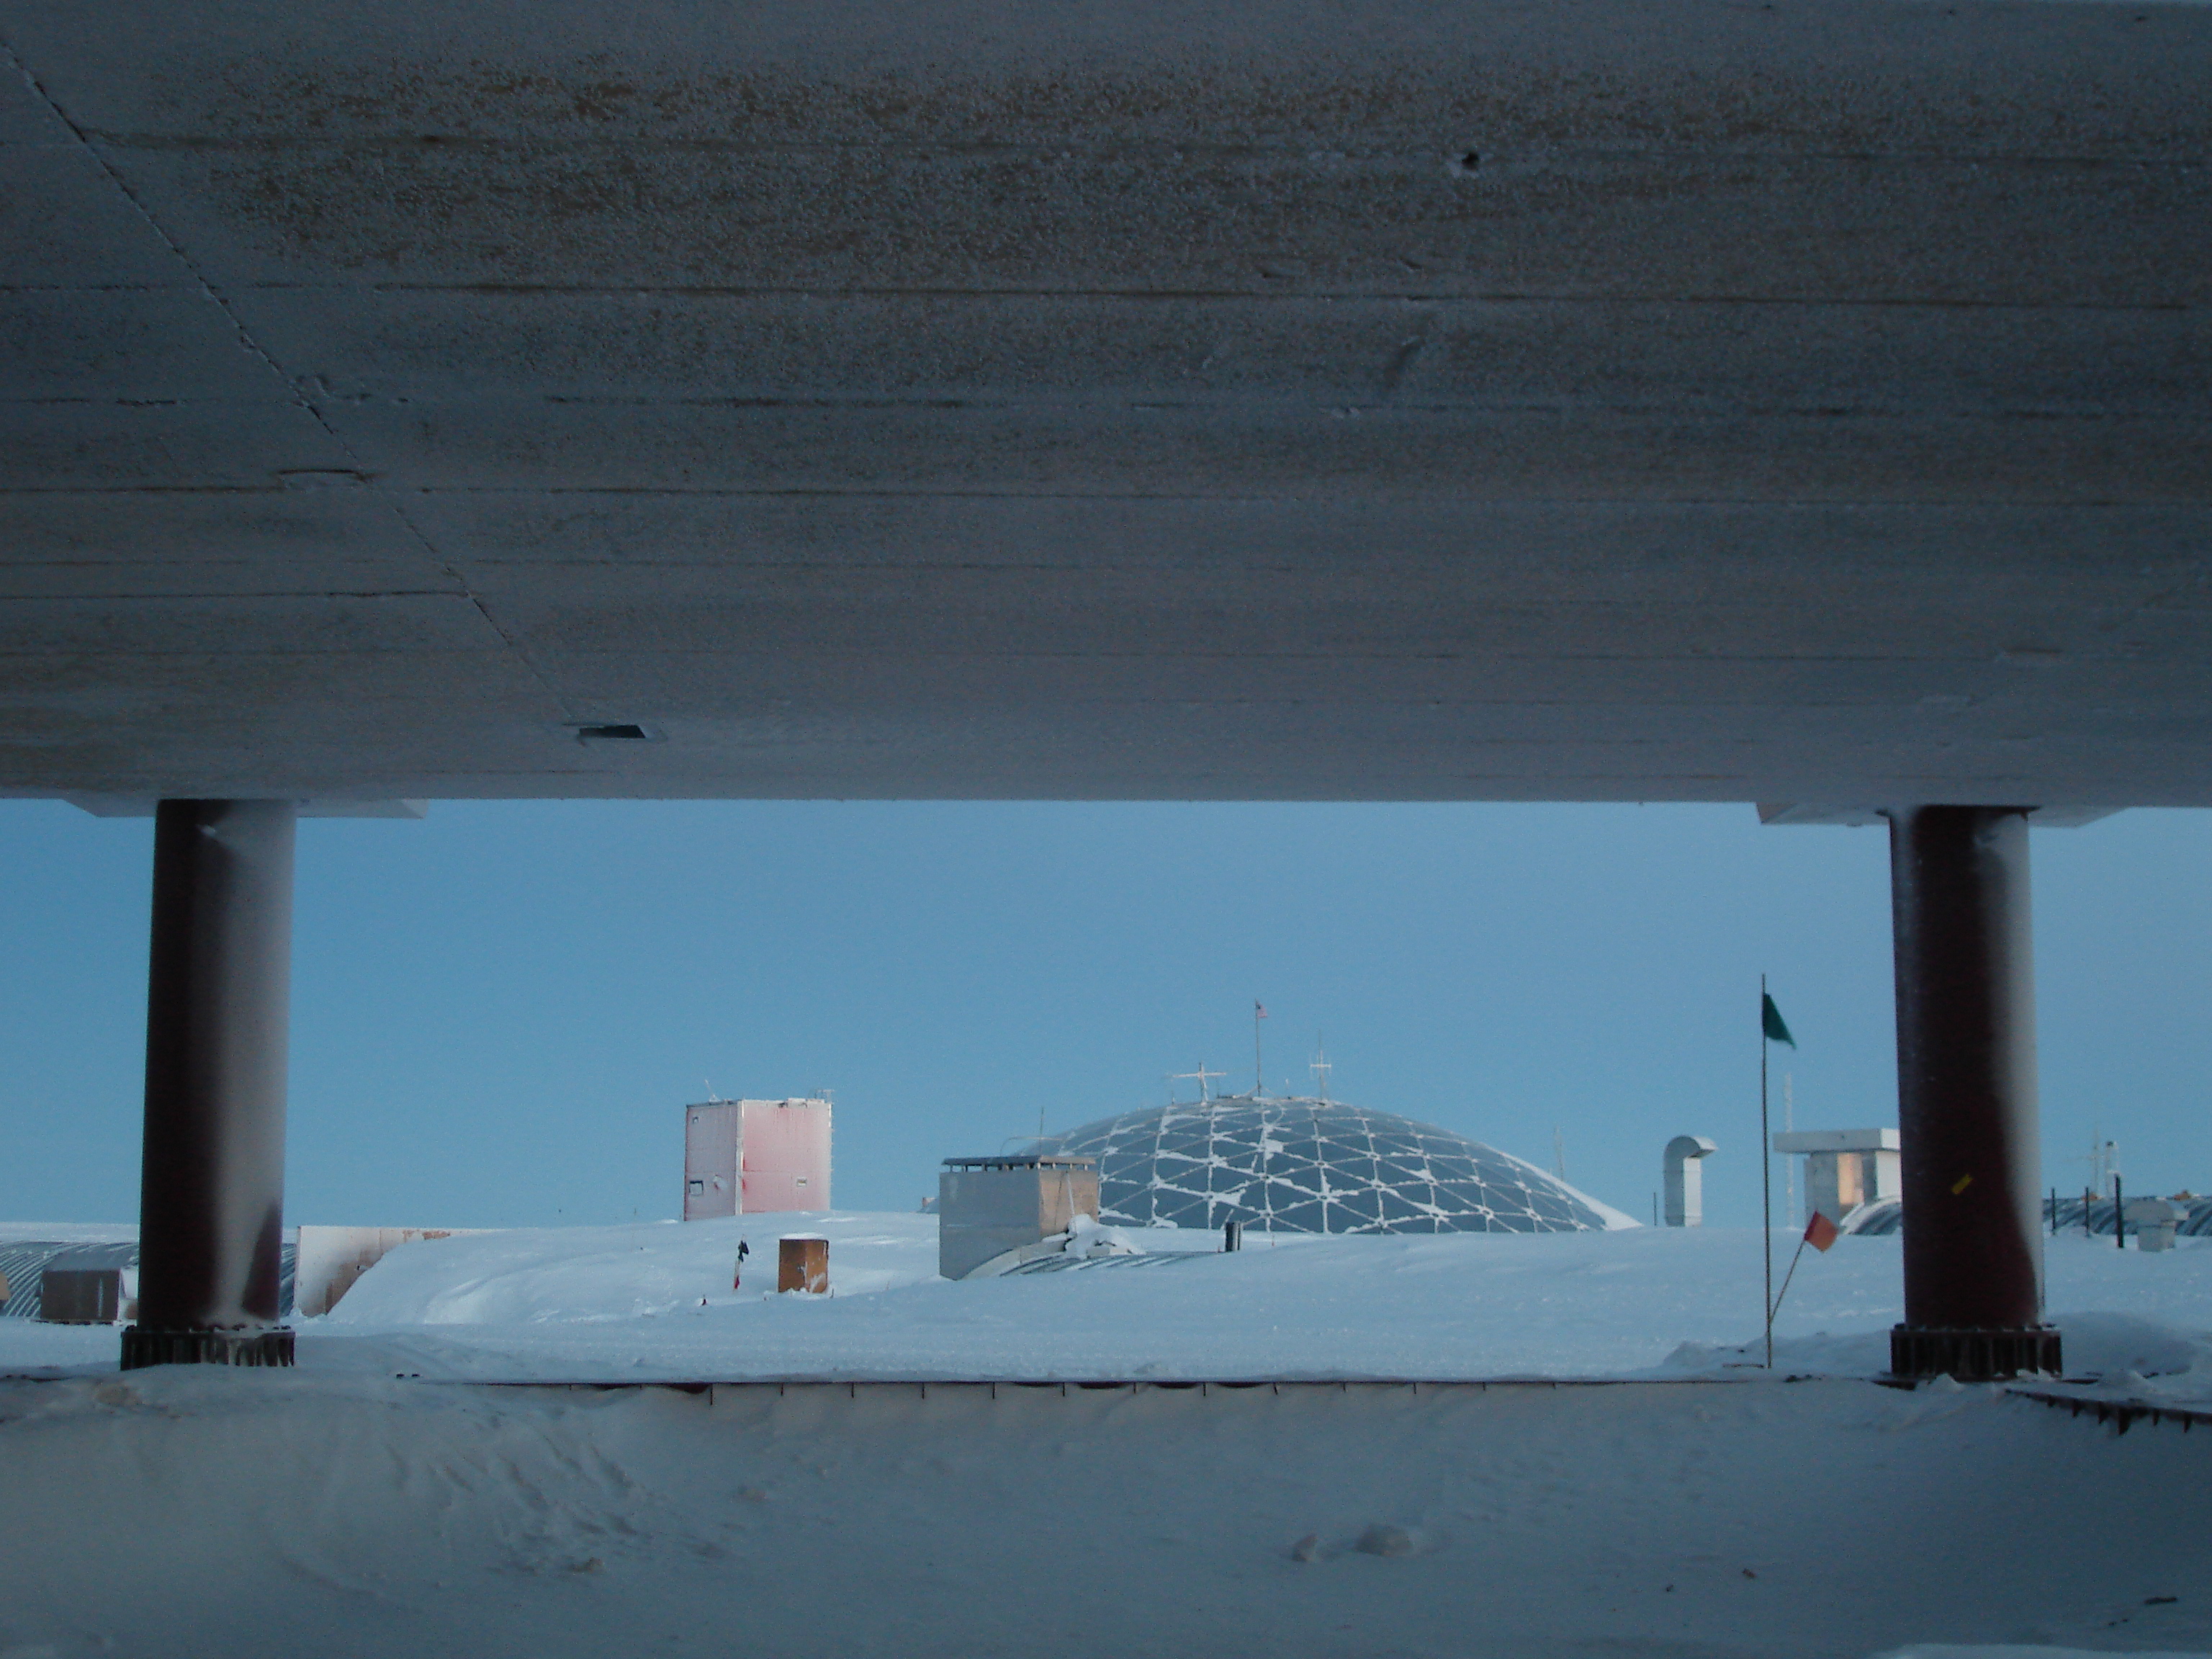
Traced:
<svg viewBox="0 0 2212 1659">
<path fill-rule="evenodd" d="M 124 1369 L 290 1365 L 279 1325 L 290 801 L 164 801 L 153 838 L 139 1318 Z"/>
</svg>

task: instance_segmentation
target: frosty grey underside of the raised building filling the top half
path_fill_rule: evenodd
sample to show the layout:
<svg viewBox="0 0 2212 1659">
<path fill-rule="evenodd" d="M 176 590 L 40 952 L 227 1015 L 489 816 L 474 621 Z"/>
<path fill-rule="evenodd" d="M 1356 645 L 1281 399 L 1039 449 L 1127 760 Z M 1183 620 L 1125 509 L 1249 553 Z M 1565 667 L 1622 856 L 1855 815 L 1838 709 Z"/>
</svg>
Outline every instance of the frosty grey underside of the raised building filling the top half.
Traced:
<svg viewBox="0 0 2212 1659">
<path fill-rule="evenodd" d="M 2212 7 L 0 40 L 4 794 L 2212 805 Z"/>
</svg>

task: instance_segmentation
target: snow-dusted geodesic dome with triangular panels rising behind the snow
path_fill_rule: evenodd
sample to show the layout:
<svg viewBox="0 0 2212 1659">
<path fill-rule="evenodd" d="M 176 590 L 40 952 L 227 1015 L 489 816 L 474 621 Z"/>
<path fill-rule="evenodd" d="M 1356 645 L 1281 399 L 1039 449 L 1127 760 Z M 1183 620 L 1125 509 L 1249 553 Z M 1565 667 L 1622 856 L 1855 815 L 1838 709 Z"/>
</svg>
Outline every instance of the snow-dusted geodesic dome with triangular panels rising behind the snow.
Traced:
<svg viewBox="0 0 2212 1659">
<path fill-rule="evenodd" d="M 1221 1095 L 1051 1137 L 1099 1161 L 1099 1219 L 1276 1232 L 1593 1232 L 1608 1214 L 1493 1146 L 1325 1099 Z"/>
</svg>

